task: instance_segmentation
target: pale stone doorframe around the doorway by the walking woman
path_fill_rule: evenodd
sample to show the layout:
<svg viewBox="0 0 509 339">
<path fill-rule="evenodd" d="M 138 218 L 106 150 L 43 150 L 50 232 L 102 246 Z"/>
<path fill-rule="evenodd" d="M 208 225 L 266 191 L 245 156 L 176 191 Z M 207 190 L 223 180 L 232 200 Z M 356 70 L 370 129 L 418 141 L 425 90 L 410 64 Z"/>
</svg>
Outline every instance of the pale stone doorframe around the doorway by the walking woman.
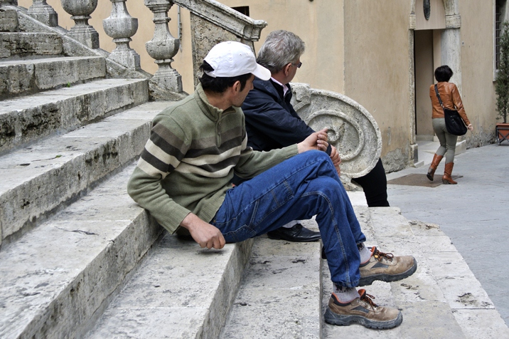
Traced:
<svg viewBox="0 0 509 339">
<path fill-rule="evenodd" d="M 414 30 L 415 0 L 410 0 L 409 16 L 409 140 L 410 140 L 410 165 L 415 166 L 419 162 L 417 155 L 417 142 L 415 137 L 415 65 L 414 65 Z M 459 0 L 443 0 L 445 8 L 446 28 L 441 33 L 441 64 L 448 65 L 454 72 L 451 82 L 456 83 L 461 93 L 461 16 L 459 15 Z M 422 9 L 417 9 L 422 10 Z"/>
</svg>

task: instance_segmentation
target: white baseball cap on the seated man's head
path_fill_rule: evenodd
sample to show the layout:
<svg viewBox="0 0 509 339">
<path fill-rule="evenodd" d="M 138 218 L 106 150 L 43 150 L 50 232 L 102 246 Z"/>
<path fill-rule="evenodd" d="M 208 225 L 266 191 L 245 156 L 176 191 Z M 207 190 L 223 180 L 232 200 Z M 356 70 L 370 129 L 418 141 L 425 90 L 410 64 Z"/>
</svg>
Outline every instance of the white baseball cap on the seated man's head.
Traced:
<svg viewBox="0 0 509 339">
<path fill-rule="evenodd" d="M 205 56 L 214 71 L 205 73 L 213 78 L 233 77 L 252 73 L 262 80 L 270 79 L 270 71 L 258 65 L 249 46 L 237 41 L 225 41 L 215 45 Z"/>
</svg>

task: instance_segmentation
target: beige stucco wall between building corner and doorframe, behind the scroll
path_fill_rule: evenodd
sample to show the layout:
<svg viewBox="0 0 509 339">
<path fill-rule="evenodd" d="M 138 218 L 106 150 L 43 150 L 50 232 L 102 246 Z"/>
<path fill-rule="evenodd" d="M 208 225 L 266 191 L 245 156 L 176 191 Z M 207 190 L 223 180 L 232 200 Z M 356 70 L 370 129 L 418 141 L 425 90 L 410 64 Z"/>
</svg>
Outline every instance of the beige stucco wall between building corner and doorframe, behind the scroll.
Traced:
<svg viewBox="0 0 509 339">
<path fill-rule="evenodd" d="M 345 95 L 377 120 L 382 157 L 404 165 L 410 135 L 409 13 L 407 0 L 345 2 Z"/>
</svg>

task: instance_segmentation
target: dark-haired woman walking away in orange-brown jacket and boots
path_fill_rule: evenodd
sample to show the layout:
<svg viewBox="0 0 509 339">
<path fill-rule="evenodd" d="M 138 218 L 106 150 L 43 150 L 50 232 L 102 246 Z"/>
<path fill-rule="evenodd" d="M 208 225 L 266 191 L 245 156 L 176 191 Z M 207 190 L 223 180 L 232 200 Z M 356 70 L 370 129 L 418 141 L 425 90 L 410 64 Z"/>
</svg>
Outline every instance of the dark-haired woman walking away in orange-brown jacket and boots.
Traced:
<svg viewBox="0 0 509 339">
<path fill-rule="evenodd" d="M 458 88 L 454 85 L 454 83 L 449 83 L 449 79 L 451 79 L 452 75 L 453 72 L 449 66 L 444 65 L 436 68 L 435 79 L 438 81 L 436 85 L 439 90 L 440 98 L 444 104 L 444 108 L 457 110 L 468 130 L 473 130 L 473 126 L 470 121 L 468 121 L 465 109 L 463 108 L 463 103 L 461 103 Z M 445 155 L 446 165 L 442 182 L 444 184 L 457 184 L 457 182 L 452 179 L 451 173 L 452 168 L 454 167 L 454 153 L 456 152 L 456 140 L 458 137 L 447 132 L 444 120 L 444 109 L 440 105 L 439 99 L 436 97 L 434 85 L 429 87 L 429 98 L 432 99 L 433 130 L 435 131 L 436 137 L 439 139 L 440 147 L 436 150 L 432 165 L 429 166 L 427 177 L 433 181 L 436 167 L 438 167 L 440 161 Z"/>
</svg>

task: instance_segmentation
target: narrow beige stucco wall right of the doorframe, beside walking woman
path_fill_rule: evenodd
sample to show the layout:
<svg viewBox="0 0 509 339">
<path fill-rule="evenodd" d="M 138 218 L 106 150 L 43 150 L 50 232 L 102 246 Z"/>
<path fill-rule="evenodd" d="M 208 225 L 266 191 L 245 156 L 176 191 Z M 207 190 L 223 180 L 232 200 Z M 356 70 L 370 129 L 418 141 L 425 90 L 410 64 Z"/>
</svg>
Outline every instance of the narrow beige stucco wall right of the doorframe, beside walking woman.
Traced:
<svg viewBox="0 0 509 339">
<path fill-rule="evenodd" d="M 459 10 L 461 98 L 474 127 L 473 134 L 467 132 L 466 140 L 468 147 L 476 147 L 493 139 L 497 122 L 493 83 L 493 7 L 484 1 L 461 0 Z"/>
</svg>

